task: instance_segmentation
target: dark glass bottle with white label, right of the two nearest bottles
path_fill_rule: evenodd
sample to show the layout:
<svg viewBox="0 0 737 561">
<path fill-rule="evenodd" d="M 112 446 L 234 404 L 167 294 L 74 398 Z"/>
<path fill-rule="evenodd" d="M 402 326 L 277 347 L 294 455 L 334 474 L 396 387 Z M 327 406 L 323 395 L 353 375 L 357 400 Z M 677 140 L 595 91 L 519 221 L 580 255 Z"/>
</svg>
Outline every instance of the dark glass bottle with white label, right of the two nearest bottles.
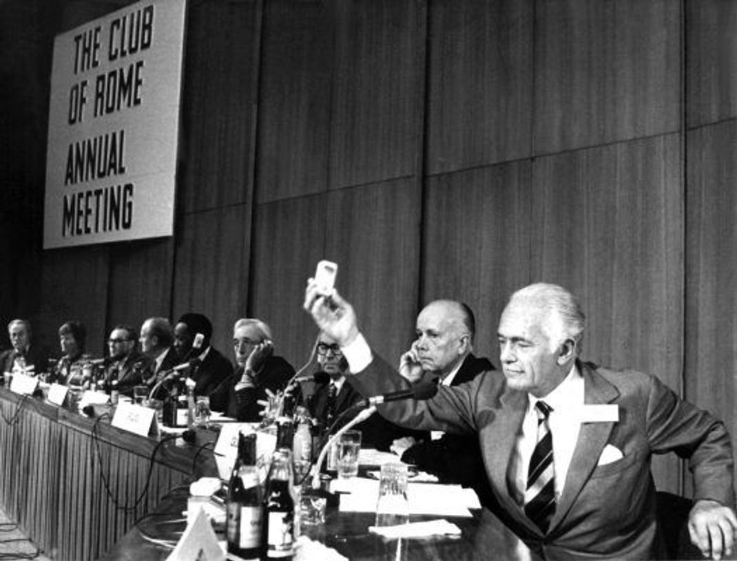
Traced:
<svg viewBox="0 0 737 561">
<path fill-rule="evenodd" d="M 288 561 L 294 558 L 295 504 L 292 487 L 292 453 L 290 448 L 277 445 L 271 459 L 264 496 L 263 536 L 267 559 Z"/>
</svg>

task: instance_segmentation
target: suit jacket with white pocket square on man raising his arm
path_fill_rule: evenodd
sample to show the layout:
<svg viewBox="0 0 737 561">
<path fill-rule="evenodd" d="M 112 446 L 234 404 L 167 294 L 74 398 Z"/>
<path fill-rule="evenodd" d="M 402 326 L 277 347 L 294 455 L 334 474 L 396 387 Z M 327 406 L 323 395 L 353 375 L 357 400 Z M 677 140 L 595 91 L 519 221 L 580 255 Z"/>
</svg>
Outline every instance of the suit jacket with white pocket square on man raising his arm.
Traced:
<svg viewBox="0 0 737 561">
<path fill-rule="evenodd" d="M 733 459 L 724 424 L 682 401 L 652 375 L 579 363 L 584 403 L 618 406 L 617 422 L 582 423 L 576 448 L 546 534 L 509 493 L 507 470 L 528 397 L 507 387 L 502 376 L 477 376 L 456 387 L 440 387 L 428 401 L 385 403 L 381 411 L 418 428 L 478 433 L 497 515 L 534 550 L 549 558 L 648 559 L 655 543 L 652 454 L 674 451 L 689 459 L 694 499 L 734 504 Z M 362 391 L 407 387 L 379 357 L 355 376 Z M 598 465 L 604 447 L 624 456 Z"/>
</svg>

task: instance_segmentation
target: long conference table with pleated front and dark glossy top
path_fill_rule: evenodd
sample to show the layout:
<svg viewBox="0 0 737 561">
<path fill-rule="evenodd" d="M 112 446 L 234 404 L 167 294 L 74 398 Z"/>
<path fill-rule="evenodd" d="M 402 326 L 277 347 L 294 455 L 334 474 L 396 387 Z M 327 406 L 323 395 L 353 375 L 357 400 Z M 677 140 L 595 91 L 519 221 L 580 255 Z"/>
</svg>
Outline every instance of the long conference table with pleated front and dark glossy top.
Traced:
<svg viewBox="0 0 737 561">
<path fill-rule="evenodd" d="M 55 560 L 166 559 L 189 482 L 217 474 L 214 431 L 161 442 L 6 387 L 0 417 L 0 507 Z M 384 540 L 368 533 L 372 515 L 328 509 L 305 534 L 351 560 L 539 559 L 486 509 L 449 520 L 461 537 Z"/>
</svg>

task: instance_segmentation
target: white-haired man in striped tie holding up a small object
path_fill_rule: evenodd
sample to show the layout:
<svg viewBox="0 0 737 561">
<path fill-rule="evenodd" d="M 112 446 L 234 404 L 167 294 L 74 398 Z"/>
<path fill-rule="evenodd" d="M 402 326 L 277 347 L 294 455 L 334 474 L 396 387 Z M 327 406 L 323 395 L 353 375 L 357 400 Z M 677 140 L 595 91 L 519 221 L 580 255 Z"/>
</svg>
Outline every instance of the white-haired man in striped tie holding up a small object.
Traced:
<svg viewBox="0 0 737 561">
<path fill-rule="evenodd" d="M 371 352 L 352 306 L 312 281 L 304 308 L 338 341 L 360 391 L 408 381 Z M 714 559 L 730 555 L 737 518 L 733 458 L 724 424 L 656 377 L 579 359 L 584 314 L 560 286 L 512 294 L 500 318 L 504 377 L 440 387 L 428 401 L 380 413 L 400 425 L 477 433 L 495 513 L 546 558 L 652 559 L 657 540 L 652 454 L 689 459 L 691 541 Z"/>
</svg>

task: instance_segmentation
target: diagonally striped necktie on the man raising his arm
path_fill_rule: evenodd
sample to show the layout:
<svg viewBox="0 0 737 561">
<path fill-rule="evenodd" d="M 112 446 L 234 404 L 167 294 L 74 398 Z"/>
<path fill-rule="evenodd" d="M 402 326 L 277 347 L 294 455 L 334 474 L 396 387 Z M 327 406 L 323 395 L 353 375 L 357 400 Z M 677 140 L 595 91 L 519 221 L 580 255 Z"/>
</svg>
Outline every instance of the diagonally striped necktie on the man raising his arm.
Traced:
<svg viewBox="0 0 737 561">
<path fill-rule="evenodd" d="M 525 515 L 548 532 L 555 512 L 555 470 L 553 468 L 553 436 L 548 415 L 553 409 L 545 401 L 535 403 L 537 412 L 537 444 L 530 458 L 525 489 Z"/>
</svg>

